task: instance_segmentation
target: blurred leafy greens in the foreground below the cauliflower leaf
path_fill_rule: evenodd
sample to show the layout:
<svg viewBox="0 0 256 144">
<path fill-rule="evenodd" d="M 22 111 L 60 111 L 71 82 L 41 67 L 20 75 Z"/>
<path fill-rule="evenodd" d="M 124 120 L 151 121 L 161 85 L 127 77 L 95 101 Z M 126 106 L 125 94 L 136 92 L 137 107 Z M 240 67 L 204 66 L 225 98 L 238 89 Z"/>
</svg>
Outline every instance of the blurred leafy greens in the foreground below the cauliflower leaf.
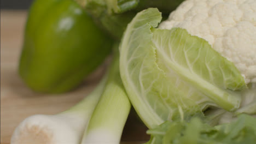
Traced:
<svg viewBox="0 0 256 144">
<path fill-rule="evenodd" d="M 240 115 L 229 124 L 211 127 L 199 118 L 191 121 L 167 121 L 147 131 L 151 139 L 147 144 L 253 144 L 256 142 L 256 118 Z"/>
</svg>

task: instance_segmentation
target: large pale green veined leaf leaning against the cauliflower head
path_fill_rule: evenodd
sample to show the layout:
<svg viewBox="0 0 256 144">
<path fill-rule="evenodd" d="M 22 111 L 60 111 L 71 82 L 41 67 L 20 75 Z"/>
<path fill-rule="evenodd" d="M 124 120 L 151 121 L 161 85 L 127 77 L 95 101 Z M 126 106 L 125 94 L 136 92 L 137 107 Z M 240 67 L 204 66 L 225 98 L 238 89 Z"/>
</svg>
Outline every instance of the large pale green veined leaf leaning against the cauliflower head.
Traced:
<svg viewBox="0 0 256 144">
<path fill-rule="evenodd" d="M 157 29 L 158 9 L 138 13 L 120 44 L 120 73 L 133 107 L 153 128 L 202 115 L 208 106 L 233 111 L 246 83 L 235 65 L 185 29 Z"/>
</svg>

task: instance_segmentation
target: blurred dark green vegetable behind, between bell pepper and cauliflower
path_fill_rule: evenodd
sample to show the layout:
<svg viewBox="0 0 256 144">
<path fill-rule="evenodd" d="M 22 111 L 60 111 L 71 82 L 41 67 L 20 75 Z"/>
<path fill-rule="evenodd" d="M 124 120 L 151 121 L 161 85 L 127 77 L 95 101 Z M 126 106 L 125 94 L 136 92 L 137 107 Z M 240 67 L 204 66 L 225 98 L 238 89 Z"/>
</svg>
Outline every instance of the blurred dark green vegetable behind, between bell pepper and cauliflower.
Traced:
<svg viewBox="0 0 256 144">
<path fill-rule="evenodd" d="M 114 39 L 120 40 L 127 24 L 138 11 L 157 7 L 166 17 L 184 0 L 75 0 L 94 18 L 95 22 Z"/>
</svg>

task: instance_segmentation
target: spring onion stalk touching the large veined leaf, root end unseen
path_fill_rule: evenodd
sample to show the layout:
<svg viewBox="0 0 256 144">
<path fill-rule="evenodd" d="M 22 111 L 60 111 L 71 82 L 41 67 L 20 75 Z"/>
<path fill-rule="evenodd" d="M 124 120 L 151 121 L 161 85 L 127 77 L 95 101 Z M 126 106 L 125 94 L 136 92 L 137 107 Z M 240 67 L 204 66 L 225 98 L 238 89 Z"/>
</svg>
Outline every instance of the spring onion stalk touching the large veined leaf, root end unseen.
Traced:
<svg viewBox="0 0 256 144">
<path fill-rule="evenodd" d="M 131 104 L 119 74 L 119 56 L 115 56 L 101 99 L 85 130 L 82 143 L 118 144 Z"/>
</svg>

